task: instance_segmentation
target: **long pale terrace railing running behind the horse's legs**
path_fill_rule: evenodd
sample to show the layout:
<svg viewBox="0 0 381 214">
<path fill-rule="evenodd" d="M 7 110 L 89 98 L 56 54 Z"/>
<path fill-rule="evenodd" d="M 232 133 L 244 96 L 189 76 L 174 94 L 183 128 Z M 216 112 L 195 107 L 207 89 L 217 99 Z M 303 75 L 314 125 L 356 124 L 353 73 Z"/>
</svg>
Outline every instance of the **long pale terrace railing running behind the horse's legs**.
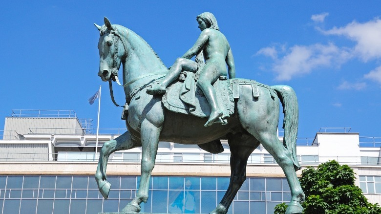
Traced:
<svg viewBox="0 0 381 214">
<path fill-rule="evenodd" d="M 307 157 L 308 156 L 308 157 Z M 303 166 L 316 166 L 327 160 L 336 160 L 340 164 L 351 166 L 379 166 L 381 157 L 333 157 L 298 155 L 299 163 Z M 305 159 L 303 159 L 305 158 Z M 95 152 L 59 152 L 59 153 L 4 153 L 0 152 L 0 162 L 96 162 L 99 153 Z M 356 161 L 357 160 L 357 161 Z M 141 153 L 115 152 L 110 156 L 109 163 L 131 162 L 140 163 Z M 156 156 L 157 163 L 207 163 L 207 164 L 229 164 L 230 153 L 162 153 Z M 268 154 L 252 154 L 248 164 L 276 164 L 273 157 Z"/>
</svg>

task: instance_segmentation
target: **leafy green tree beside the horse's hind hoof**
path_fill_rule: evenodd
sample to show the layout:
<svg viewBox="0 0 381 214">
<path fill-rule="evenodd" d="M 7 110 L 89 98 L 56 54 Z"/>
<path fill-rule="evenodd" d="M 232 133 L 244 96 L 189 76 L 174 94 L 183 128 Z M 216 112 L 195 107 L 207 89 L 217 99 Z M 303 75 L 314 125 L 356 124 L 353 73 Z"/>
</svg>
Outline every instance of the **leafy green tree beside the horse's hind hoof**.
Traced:
<svg viewBox="0 0 381 214">
<path fill-rule="evenodd" d="M 299 179 L 306 195 L 303 214 L 381 214 L 355 185 L 355 172 L 348 165 L 331 160 L 317 169 L 307 167 Z M 285 214 L 287 205 L 278 204 L 274 214 Z"/>
</svg>

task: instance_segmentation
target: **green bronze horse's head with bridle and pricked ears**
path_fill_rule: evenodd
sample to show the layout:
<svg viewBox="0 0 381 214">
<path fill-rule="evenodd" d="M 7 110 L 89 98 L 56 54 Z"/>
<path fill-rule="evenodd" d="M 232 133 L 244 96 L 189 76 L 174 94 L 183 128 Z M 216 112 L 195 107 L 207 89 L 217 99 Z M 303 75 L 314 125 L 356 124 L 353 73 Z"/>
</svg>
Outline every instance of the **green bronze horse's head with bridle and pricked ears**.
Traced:
<svg viewBox="0 0 381 214">
<path fill-rule="evenodd" d="M 110 79 L 115 81 L 115 76 L 118 76 L 118 70 L 122 64 L 122 60 L 126 57 L 127 49 L 125 39 L 128 32 L 120 32 L 119 25 L 112 25 L 105 17 L 105 24 L 99 26 L 94 23 L 100 32 L 98 42 L 99 49 L 99 72 L 98 76 L 103 81 Z"/>
</svg>

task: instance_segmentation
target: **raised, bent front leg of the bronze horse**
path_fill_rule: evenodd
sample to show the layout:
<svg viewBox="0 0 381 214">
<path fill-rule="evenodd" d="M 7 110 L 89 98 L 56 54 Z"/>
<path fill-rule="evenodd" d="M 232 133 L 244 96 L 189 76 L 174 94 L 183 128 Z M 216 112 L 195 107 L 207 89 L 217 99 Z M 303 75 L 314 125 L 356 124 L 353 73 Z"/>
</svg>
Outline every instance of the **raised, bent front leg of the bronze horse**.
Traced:
<svg viewBox="0 0 381 214">
<path fill-rule="evenodd" d="M 98 167 L 95 172 L 95 180 L 98 184 L 98 189 L 102 193 L 103 197 L 107 199 L 108 192 L 110 191 L 111 184 L 106 180 L 106 167 L 108 162 L 108 157 L 114 151 L 118 150 L 128 150 L 135 148 L 139 145 L 136 145 L 132 139 L 131 135 L 128 131 L 114 140 L 107 141 L 103 144 L 99 155 Z"/>
</svg>

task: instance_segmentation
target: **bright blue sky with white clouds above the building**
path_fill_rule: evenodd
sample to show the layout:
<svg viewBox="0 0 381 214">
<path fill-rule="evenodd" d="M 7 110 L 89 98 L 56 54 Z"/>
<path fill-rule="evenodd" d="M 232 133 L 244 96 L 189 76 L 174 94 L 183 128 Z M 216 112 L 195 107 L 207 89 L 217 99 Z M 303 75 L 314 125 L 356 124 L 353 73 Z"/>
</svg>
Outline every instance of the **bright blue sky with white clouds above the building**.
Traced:
<svg viewBox="0 0 381 214">
<path fill-rule="evenodd" d="M 299 101 L 298 137 L 320 127 L 381 136 L 381 2 L 370 1 L 7 1 L 1 3 L 0 129 L 11 109 L 73 109 L 100 128 L 124 128 L 108 84 L 97 76 L 93 22 L 124 25 L 170 66 L 212 12 L 230 42 L 236 76 L 290 85 Z M 114 86 L 123 103 L 122 88 Z M 282 115 L 281 115 L 282 119 Z"/>
</svg>

